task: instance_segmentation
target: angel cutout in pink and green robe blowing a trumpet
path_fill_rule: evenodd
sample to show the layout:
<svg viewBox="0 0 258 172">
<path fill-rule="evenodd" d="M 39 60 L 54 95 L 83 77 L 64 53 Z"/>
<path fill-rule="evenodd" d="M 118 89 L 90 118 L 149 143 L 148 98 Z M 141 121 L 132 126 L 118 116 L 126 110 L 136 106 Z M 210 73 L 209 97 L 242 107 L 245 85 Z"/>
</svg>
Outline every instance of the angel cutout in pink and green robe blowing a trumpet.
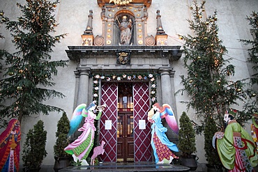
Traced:
<svg viewBox="0 0 258 172">
<path fill-rule="evenodd" d="M 103 106 L 102 106 L 103 107 Z M 98 114 L 97 114 L 98 111 Z M 73 155 L 73 159 L 77 162 L 82 162 L 82 165 L 86 165 L 86 158 L 88 157 L 91 149 L 93 147 L 94 140 L 94 132 L 96 131 L 96 127 L 94 126 L 94 120 L 99 120 L 102 114 L 103 108 L 96 109 L 96 104 L 91 102 L 89 107 L 86 107 L 86 104 L 79 104 L 73 112 L 72 119 L 70 120 L 70 131 L 68 136 L 71 136 L 79 127 L 79 124 L 84 119 L 84 125 L 78 129 L 78 131 L 82 132 L 78 138 L 70 143 L 64 150 L 66 153 Z"/>
</svg>

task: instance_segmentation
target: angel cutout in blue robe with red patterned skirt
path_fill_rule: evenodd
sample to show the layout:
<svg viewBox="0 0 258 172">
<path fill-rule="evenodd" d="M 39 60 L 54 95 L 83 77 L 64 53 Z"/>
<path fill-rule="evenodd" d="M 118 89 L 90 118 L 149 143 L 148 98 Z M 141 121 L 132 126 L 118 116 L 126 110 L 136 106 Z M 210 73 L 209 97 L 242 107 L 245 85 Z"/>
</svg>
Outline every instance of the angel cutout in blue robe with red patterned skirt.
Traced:
<svg viewBox="0 0 258 172">
<path fill-rule="evenodd" d="M 161 123 L 161 118 L 165 118 L 167 124 L 171 129 L 178 134 L 179 127 L 176 123 L 176 118 L 169 104 L 163 104 L 160 107 L 160 104 L 153 104 L 153 108 L 148 112 L 148 120 L 152 123 L 151 125 L 151 146 L 153 148 L 153 154 L 155 157 L 156 164 L 170 164 L 172 159 L 179 159 L 174 152 L 179 152 L 175 143 L 172 143 L 167 139 L 167 128 L 164 127 Z"/>
</svg>

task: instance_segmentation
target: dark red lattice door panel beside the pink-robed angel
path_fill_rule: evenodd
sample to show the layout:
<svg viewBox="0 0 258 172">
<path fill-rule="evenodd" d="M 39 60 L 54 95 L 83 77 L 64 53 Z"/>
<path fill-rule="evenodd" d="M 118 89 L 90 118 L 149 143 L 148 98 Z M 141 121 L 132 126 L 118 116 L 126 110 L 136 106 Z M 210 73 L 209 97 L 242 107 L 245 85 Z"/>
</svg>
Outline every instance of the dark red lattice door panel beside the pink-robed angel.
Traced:
<svg viewBox="0 0 258 172">
<path fill-rule="evenodd" d="M 116 83 L 102 85 L 101 104 L 107 104 L 100 118 L 100 143 L 105 141 L 105 153 L 100 155 L 102 162 L 116 162 L 117 91 Z M 106 120 L 112 120 L 112 130 L 105 130 Z"/>
</svg>

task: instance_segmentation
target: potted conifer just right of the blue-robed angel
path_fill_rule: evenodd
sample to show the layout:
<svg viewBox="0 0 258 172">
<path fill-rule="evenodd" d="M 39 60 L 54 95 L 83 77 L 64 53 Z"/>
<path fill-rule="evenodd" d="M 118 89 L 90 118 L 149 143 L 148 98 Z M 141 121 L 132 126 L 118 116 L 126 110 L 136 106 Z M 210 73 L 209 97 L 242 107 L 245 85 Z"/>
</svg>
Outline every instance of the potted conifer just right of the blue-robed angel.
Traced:
<svg viewBox="0 0 258 172">
<path fill-rule="evenodd" d="M 195 130 L 185 111 L 179 119 L 179 126 L 179 144 L 177 146 L 181 152 L 181 165 L 188 166 L 191 171 L 195 171 L 197 169 L 197 156 L 193 154 L 196 152 Z"/>
</svg>

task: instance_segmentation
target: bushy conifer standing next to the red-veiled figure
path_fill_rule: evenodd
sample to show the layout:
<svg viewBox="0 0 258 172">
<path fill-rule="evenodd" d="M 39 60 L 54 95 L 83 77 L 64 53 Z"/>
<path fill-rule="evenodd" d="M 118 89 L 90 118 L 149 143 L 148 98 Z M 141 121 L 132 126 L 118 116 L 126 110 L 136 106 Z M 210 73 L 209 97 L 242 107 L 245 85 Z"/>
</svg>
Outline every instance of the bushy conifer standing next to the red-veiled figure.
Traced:
<svg viewBox="0 0 258 172">
<path fill-rule="evenodd" d="M 47 141 L 47 131 L 44 130 L 43 120 L 33 126 L 26 134 L 24 148 L 22 150 L 22 161 L 24 171 L 39 171 L 43 159 L 47 156 L 45 150 Z"/>
</svg>

